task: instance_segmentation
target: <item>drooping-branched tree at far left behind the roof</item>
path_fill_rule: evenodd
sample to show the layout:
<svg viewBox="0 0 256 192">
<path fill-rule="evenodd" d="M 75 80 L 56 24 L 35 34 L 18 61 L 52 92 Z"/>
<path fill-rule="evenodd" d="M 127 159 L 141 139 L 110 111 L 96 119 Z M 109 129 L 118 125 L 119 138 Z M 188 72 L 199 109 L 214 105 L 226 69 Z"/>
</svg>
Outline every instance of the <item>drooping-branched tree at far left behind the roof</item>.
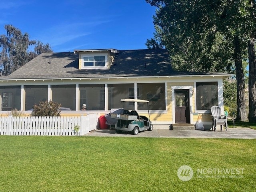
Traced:
<svg viewBox="0 0 256 192">
<path fill-rule="evenodd" d="M 6 25 L 7 35 L 0 36 L 0 75 L 9 75 L 20 66 L 35 58 L 42 52 L 53 52 L 49 44 L 42 44 L 35 40 L 29 40 L 28 33 L 22 32 L 12 25 Z M 30 46 L 34 47 L 34 52 L 28 52 Z"/>
</svg>

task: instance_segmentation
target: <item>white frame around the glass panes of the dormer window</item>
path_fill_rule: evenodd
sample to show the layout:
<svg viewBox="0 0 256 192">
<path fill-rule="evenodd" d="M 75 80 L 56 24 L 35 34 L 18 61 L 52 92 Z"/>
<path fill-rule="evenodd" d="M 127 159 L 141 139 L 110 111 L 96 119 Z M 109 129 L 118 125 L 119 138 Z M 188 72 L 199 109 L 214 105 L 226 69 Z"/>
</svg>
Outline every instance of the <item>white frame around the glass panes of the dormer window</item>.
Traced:
<svg viewBox="0 0 256 192">
<path fill-rule="evenodd" d="M 104 56 L 105 57 L 105 65 L 104 66 L 95 66 L 95 63 L 98 62 L 95 60 L 95 56 Z M 84 57 L 93 57 L 93 61 L 84 61 Z M 86 62 L 93 62 L 93 66 L 84 66 Z M 101 61 L 103 62 L 103 61 Z M 108 54 L 107 53 L 91 53 L 91 54 L 81 54 L 81 69 L 104 69 L 108 68 Z"/>
</svg>

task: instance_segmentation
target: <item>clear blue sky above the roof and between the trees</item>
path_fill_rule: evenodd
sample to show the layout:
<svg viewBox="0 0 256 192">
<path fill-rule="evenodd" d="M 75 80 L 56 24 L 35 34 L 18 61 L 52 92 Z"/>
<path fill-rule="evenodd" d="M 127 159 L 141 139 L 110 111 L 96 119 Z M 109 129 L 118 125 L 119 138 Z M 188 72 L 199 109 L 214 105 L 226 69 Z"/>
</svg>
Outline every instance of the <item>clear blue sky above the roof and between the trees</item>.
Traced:
<svg viewBox="0 0 256 192">
<path fill-rule="evenodd" d="M 145 49 L 155 10 L 145 0 L 1 0 L 0 34 L 11 24 L 54 52 Z"/>
</svg>

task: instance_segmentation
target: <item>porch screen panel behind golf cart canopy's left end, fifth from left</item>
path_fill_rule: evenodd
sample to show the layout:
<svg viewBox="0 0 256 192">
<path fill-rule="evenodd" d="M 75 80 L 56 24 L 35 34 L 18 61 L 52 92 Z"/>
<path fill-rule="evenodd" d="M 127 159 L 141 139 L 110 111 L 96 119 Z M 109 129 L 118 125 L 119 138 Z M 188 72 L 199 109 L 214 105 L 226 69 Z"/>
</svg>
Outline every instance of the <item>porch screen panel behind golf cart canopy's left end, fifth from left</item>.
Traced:
<svg viewBox="0 0 256 192">
<path fill-rule="evenodd" d="M 108 110 L 112 108 L 123 108 L 127 110 L 133 110 L 133 104 L 130 102 L 125 102 L 125 106 L 123 102 L 121 102 L 121 99 L 133 97 L 131 95 L 131 91 L 129 92 L 129 89 L 131 88 L 134 90 L 134 84 L 133 83 L 127 83 L 127 84 L 108 84 Z M 134 93 L 133 93 L 134 94 Z"/>
</svg>

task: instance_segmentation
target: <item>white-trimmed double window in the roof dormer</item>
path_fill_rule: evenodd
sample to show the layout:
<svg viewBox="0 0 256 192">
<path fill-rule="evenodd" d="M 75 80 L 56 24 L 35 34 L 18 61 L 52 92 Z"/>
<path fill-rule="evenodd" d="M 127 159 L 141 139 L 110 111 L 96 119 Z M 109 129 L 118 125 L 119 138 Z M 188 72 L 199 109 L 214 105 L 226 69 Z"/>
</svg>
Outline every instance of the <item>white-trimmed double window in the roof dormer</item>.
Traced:
<svg viewBox="0 0 256 192">
<path fill-rule="evenodd" d="M 107 54 L 82 54 L 82 68 L 107 68 Z"/>
</svg>

